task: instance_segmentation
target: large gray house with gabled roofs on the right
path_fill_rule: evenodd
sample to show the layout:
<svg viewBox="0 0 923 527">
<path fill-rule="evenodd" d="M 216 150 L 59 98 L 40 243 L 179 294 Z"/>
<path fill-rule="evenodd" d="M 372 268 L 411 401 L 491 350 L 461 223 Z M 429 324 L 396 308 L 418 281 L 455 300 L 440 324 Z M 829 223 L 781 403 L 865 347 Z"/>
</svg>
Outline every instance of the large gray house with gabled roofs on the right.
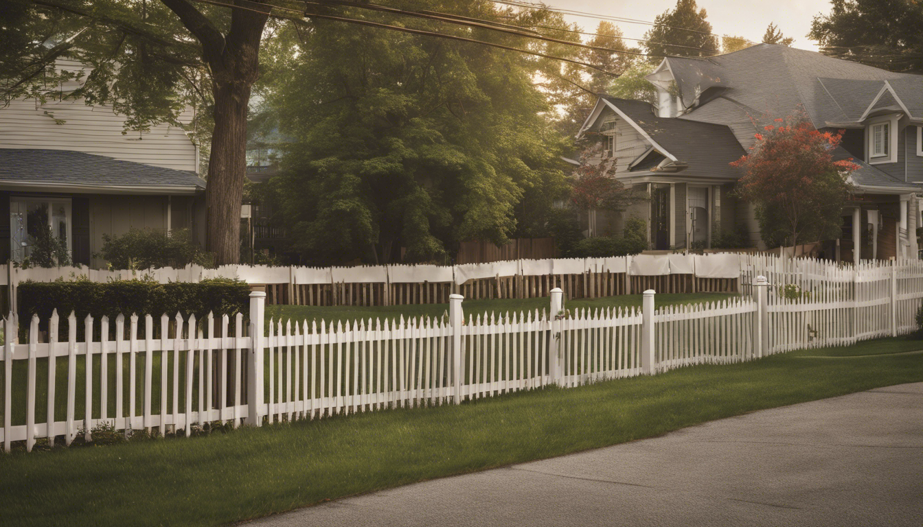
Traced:
<svg viewBox="0 0 923 527">
<path fill-rule="evenodd" d="M 653 249 L 710 246 L 713 233 L 740 228 L 764 248 L 752 205 L 732 193 L 741 174 L 728 163 L 773 118 L 803 109 L 818 129 L 845 129 L 834 158 L 860 167 L 851 175 L 857 192 L 845 210 L 844 239 L 815 252 L 847 261 L 916 258 L 923 77 L 758 44 L 708 58 L 669 57 L 647 78 L 656 107 L 601 97 L 578 134 L 600 134 L 613 175 L 651 196 L 606 215 L 597 231 L 618 233 L 636 215 L 648 221 Z"/>
</svg>

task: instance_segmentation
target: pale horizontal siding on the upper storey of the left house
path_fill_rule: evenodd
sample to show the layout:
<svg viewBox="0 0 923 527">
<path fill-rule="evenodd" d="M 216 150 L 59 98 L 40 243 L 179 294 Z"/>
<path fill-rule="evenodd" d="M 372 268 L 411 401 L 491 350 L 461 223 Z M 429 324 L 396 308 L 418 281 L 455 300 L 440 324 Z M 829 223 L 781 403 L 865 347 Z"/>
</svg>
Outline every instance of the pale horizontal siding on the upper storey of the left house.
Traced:
<svg viewBox="0 0 923 527">
<path fill-rule="evenodd" d="M 150 132 L 123 134 L 124 123 L 125 117 L 110 108 L 82 100 L 13 101 L 0 108 L 0 148 L 74 150 L 175 170 L 198 169 L 196 146 L 181 128 L 158 125 Z"/>
</svg>

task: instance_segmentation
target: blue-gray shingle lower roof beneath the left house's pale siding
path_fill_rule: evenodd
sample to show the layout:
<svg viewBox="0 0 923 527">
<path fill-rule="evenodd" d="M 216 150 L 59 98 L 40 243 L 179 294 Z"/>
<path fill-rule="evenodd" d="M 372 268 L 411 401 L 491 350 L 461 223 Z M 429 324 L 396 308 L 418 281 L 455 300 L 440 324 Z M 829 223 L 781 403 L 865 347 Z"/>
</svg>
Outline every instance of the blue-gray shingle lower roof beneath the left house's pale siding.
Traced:
<svg viewBox="0 0 923 527">
<path fill-rule="evenodd" d="M 193 172 L 73 150 L 0 149 L 0 182 L 61 186 L 205 188 Z"/>
</svg>

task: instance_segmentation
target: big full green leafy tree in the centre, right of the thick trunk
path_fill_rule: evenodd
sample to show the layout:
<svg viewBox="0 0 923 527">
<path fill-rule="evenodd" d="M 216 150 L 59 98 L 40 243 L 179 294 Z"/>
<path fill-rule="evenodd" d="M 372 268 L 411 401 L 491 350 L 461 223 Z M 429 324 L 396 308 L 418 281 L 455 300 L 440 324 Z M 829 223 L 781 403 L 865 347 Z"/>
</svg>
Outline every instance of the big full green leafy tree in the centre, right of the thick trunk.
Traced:
<svg viewBox="0 0 923 527">
<path fill-rule="evenodd" d="M 484 1 L 426 8 L 518 16 Z M 264 52 L 261 93 L 267 121 L 292 138 L 273 186 L 307 259 L 384 263 L 404 248 L 405 259 L 427 261 L 468 239 L 502 244 L 537 234 L 567 192 L 565 141 L 533 84 L 557 63 L 323 21 L 279 37 Z"/>
</svg>

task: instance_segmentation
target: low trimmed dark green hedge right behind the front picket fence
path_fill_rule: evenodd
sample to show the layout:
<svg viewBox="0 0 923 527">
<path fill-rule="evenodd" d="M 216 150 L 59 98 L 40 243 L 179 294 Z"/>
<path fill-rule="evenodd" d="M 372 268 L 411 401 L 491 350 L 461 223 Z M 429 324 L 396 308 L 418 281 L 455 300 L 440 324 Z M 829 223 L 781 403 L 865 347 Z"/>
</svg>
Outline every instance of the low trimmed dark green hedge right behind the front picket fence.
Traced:
<svg viewBox="0 0 923 527">
<path fill-rule="evenodd" d="M 250 287 L 246 281 L 230 279 L 203 280 L 200 282 L 125 280 L 94 282 L 78 281 L 24 281 L 18 286 L 19 327 L 29 327 L 33 314 L 39 316 L 42 329 L 47 328 L 48 319 L 54 309 L 61 318 L 61 328 L 66 329 L 66 317 L 74 311 L 78 328 L 83 319 L 92 315 L 96 321 L 103 315 L 109 317 L 110 328 L 115 317 L 121 313 L 130 317 L 137 313 L 142 317 L 138 327 L 143 330 L 145 315 L 159 318 L 176 313 L 183 317 L 195 315 L 199 320 L 209 312 L 216 317 L 233 317 L 238 312 L 246 316 L 249 305 Z M 159 326 L 156 322 L 155 326 Z M 219 323 L 220 324 L 220 323 Z M 128 321 L 126 320 L 126 327 Z"/>
</svg>

